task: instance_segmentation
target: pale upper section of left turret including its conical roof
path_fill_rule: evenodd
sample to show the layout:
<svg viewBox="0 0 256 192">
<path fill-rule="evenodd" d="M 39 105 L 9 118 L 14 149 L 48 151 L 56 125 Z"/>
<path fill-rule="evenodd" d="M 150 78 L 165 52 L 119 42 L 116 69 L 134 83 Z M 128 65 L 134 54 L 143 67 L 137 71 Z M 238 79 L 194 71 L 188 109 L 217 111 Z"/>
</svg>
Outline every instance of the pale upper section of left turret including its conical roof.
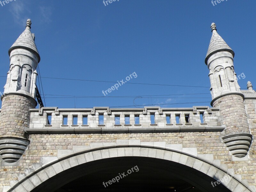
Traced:
<svg viewBox="0 0 256 192">
<path fill-rule="evenodd" d="M 36 68 L 40 55 L 30 28 L 31 20 L 28 19 L 25 30 L 9 49 L 10 70 L 7 73 L 4 93 L 19 93 L 36 100 Z"/>
</svg>

